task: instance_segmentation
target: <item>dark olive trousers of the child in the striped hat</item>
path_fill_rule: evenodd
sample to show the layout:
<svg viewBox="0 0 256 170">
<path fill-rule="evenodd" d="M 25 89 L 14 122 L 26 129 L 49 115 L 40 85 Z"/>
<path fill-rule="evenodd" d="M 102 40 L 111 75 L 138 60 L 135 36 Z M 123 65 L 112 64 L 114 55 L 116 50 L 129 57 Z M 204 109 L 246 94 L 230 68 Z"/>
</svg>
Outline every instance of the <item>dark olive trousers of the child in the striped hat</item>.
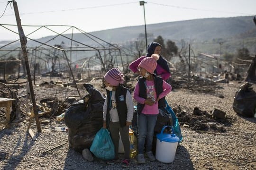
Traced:
<svg viewBox="0 0 256 170">
<path fill-rule="evenodd" d="M 120 127 L 119 122 L 110 121 L 110 134 L 115 145 L 116 158 L 118 158 L 118 147 L 119 147 L 119 132 L 122 143 L 124 145 L 124 158 L 129 159 L 130 155 L 130 141 L 129 141 L 129 127 Z"/>
</svg>

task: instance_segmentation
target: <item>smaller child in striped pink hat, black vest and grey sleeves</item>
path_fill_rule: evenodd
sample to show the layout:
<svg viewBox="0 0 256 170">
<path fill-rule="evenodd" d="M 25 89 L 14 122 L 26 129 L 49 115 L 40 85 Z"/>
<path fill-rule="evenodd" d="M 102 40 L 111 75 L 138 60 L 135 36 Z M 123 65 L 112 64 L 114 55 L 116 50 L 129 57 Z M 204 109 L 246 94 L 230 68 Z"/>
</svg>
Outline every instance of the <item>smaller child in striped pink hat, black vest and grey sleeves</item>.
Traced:
<svg viewBox="0 0 256 170">
<path fill-rule="evenodd" d="M 124 160 L 121 166 L 128 168 L 130 142 L 129 125 L 133 118 L 133 101 L 128 88 L 122 86 L 123 74 L 118 68 L 110 69 L 104 76 L 104 83 L 107 90 L 107 99 L 103 106 L 103 128 L 110 129 L 110 135 L 115 145 L 116 157 L 108 161 L 108 164 L 114 164 L 119 161 L 119 133 L 124 145 Z"/>
</svg>

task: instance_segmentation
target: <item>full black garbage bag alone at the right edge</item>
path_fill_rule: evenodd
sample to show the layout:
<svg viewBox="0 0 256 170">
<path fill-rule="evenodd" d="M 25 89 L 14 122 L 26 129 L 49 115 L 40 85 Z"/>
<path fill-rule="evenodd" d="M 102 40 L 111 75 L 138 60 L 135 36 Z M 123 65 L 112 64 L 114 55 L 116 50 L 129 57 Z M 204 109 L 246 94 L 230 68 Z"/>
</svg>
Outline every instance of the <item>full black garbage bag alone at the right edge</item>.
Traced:
<svg viewBox="0 0 256 170">
<path fill-rule="evenodd" d="M 248 82 L 241 85 L 233 102 L 235 112 L 245 117 L 254 117 L 256 109 L 256 92 L 251 86 Z"/>
</svg>

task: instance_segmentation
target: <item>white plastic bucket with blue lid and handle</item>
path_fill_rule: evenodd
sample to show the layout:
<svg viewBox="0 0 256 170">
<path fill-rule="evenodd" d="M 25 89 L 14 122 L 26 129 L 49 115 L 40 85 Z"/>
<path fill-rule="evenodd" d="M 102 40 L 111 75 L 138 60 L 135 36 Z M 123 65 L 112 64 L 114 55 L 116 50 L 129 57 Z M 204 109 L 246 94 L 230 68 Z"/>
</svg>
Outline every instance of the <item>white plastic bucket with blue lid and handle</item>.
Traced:
<svg viewBox="0 0 256 170">
<path fill-rule="evenodd" d="M 179 137 L 174 134 L 174 130 L 172 128 L 172 134 L 163 134 L 166 127 L 162 128 L 161 133 L 156 135 L 156 149 L 155 149 L 155 158 L 158 161 L 164 163 L 171 163 L 174 161 L 176 149 L 179 142 Z"/>
</svg>

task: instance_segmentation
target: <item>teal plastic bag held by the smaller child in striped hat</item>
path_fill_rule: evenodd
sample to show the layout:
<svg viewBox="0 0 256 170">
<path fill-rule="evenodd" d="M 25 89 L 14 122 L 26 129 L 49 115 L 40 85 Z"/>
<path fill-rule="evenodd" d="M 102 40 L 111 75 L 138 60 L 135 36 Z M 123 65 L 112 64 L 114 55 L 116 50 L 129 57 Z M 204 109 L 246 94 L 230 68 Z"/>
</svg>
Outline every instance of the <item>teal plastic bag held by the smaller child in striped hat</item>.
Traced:
<svg viewBox="0 0 256 170">
<path fill-rule="evenodd" d="M 103 160 L 111 160 L 115 158 L 115 146 L 108 129 L 102 127 L 97 132 L 91 144 L 90 151 L 97 158 Z"/>
</svg>

